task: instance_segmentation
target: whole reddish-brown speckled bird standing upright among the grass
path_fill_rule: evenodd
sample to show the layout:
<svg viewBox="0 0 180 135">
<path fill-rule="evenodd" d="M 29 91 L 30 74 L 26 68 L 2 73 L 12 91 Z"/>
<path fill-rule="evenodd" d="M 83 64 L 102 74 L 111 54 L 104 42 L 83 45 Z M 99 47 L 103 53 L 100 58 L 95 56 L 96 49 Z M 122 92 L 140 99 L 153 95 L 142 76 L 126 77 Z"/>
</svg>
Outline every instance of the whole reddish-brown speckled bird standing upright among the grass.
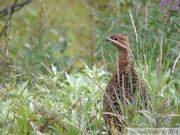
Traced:
<svg viewBox="0 0 180 135">
<path fill-rule="evenodd" d="M 106 38 L 106 40 L 117 47 L 120 52 L 120 57 L 117 63 L 117 69 L 107 85 L 106 93 L 104 94 L 104 118 L 110 128 L 113 126 L 118 131 L 121 131 L 121 122 L 119 118 L 113 114 L 122 116 L 120 102 L 123 105 L 125 105 L 127 101 L 132 102 L 137 90 L 139 90 L 142 99 L 145 100 L 146 85 L 144 81 L 138 77 L 134 68 L 128 38 L 121 34 L 113 34 Z"/>
</svg>

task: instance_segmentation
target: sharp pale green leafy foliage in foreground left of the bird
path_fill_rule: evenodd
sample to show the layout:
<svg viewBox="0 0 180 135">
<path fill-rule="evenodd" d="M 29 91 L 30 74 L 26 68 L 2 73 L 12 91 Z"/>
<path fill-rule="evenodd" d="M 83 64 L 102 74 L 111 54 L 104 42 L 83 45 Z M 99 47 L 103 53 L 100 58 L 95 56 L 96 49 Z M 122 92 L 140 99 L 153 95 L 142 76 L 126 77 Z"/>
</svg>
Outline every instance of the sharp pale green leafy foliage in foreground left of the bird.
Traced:
<svg viewBox="0 0 180 135">
<path fill-rule="evenodd" d="M 1 91 L 1 133 L 74 134 L 102 131 L 102 92 L 87 76 L 104 86 L 102 68 L 84 69 L 77 75 L 59 72 L 52 65 L 48 75 L 6 87 Z M 6 125 L 6 126 L 5 126 Z M 85 130 L 86 129 L 86 130 Z"/>
</svg>

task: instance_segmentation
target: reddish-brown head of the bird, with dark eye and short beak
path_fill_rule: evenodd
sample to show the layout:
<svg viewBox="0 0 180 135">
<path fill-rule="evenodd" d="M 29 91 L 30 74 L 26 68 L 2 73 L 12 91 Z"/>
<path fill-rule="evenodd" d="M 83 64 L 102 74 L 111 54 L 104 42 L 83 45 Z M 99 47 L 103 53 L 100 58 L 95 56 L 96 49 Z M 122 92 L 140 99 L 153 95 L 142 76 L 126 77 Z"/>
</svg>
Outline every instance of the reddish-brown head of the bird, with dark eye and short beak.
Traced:
<svg viewBox="0 0 180 135">
<path fill-rule="evenodd" d="M 128 38 L 119 33 L 107 37 L 106 41 L 116 46 L 120 51 L 128 51 L 129 49 Z"/>
</svg>

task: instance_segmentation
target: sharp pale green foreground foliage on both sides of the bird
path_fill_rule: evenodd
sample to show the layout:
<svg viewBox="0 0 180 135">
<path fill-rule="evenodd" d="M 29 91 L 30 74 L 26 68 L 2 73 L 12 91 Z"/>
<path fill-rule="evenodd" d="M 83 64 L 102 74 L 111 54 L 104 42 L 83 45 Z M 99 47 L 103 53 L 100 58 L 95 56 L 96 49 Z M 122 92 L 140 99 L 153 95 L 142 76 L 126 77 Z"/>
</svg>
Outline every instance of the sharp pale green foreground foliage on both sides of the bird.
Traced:
<svg viewBox="0 0 180 135">
<path fill-rule="evenodd" d="M 144 77 L 144 72 L 138 71 Z M 104 134 L 101 87 L 106 86 L 107 76 L 111 75 L 103 67 L 86 66 L 70 75 L 52 65 L 47 75 L 32 78 L 33 89 L 30 82 L 9 84 L 1 91 L 1 134 Z M 157 83 L 155 73 L 148 78 L 149 109 L 139 110 L 137 104 L 122 106 L 126 128 L 178 127 L 180 95 L 175 85 L 179 80 L 171 80 L 168 71 Z"/>
</svg>

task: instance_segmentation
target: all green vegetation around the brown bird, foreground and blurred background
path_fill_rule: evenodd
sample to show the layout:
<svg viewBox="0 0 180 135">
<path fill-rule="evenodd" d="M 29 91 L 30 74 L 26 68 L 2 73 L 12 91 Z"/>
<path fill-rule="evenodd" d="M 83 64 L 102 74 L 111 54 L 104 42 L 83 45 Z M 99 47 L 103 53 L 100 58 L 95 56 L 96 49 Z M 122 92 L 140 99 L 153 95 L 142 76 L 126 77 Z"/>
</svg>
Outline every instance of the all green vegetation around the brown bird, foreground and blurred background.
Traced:
<svg viewBox="0 0 180 135">
<path fill-rule="evenodd" d="M 126 127 L 178 128 L 180 11 L 163 2 L 36 0 L 1 18 L 0 134 L 106 134 L 102 89 L 119 54 L 104 39 L 116 32 L 152 97 L 124 110 Z"/>
</svg>

